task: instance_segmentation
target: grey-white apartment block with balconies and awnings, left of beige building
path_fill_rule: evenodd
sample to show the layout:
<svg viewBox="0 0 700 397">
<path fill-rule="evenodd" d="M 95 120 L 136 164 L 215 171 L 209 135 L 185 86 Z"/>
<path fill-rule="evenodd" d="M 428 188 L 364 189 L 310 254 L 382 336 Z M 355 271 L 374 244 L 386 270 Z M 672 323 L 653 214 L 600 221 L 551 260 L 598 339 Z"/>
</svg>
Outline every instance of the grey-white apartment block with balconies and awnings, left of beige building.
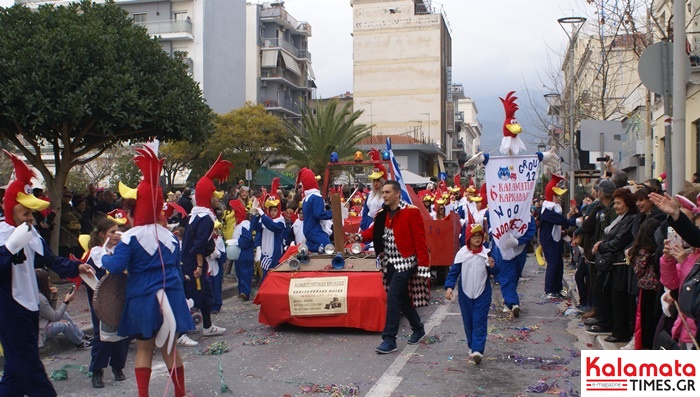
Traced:
<svg viewBox="0 0 700 397">
<path fill-rule="evenodd" d="M 246 6 L 245 99 L 272 114 L 301 118 L 301 106 L 315 97 L 308 39 L 311 25 L 298 21 L 284 3 Z"/>
</svg>

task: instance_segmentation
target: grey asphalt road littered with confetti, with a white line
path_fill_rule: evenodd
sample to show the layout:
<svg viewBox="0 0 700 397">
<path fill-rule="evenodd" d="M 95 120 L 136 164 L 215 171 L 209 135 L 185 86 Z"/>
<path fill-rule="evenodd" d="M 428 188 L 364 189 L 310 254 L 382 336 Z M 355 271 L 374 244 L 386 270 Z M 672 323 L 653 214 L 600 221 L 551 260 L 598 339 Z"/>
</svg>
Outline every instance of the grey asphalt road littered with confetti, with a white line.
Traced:
<svg viewBox="0 0 700 397">
<path fill-rule="evenodd" d="M 522 313 L 514 319 L 501 311 L 498 287 L 489 313 L 484 361 L 469 362 L 459 304 L 445 301 L 433 288 L 432 304 L 419 308 L 428 337 L 409 346 L 403 320 L 399 351 L 378 355 L 379 333 L 352 329 L 272 329 L 257 321 L 258 307 L 238 298 L 225 301 L 214 323 L 224 336 L 198 340 L 179 349 L 185 361 L 188 396 L 534 396 L 532 390 L 560 396 L 580 394 L 581 348 L 591 348 L 575 316 L 564 312 L 569 300 L 542 297 L 544 268 L 534 257 L 520 286 Z M 567 275 L 570 278 L 570 275 Z M 583 336 L 582 336 L 583 335 Z M 228 351 L 207 354 L 213 343 Z M 104 389 L 93 389 L 79 366 L 89 364 L 89 350 L 69 350 L 44 359 L 47 373 L 65 369 L 68 379 L 54 381 L 60 396 L 135 396 L 135 345 L 129 352 L 127 380 L 115 382 L 105 371 Z M 231 391 L 222 392 L 222 385 Z M 166 390 L 167 388 L 167 390 Z M 531 390 L 528 392 L 527 390 Z M 335 394 L 333 394 L 335 392 Z M 151 396 L 172 396 L 172 384 L 160 354 L 154 357 Z"/>
</svg>

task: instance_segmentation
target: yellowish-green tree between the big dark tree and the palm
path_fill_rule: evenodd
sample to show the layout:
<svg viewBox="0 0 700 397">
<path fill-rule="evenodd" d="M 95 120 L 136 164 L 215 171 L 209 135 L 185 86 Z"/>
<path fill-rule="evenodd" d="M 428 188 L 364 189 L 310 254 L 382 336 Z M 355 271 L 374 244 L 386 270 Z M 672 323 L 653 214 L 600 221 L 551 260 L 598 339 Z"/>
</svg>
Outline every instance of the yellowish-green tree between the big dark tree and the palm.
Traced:
<svg viewBox="0 0 700 397">
<path fill-rule="evenodd" d="M 192 167 L 190 177 L 198 180 L 219 153 L 233 163 L 229 180 L 234 183 L 245 178 L 245 170 L 253 175 L 262 165 L 274 165 L 280 151 L 283 132 L 279 118 L 269 114 L 262 105 L 246 103 L 214 120 L 215 130 L 204 145 L 201 160 Z"/>
</svg>

